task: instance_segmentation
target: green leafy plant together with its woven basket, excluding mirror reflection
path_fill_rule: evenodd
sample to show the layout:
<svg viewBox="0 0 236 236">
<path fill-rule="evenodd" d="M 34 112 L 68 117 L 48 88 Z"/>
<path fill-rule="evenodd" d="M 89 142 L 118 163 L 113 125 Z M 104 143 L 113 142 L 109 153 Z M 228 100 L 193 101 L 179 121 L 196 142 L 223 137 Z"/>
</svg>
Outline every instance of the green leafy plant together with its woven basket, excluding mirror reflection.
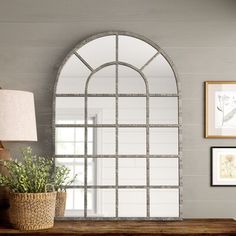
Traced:
<svg viewBox="0 0 236 236">
<path fill-rule="evenodd" d="M 30 147 L 22 151 L 22 159 L 4 163 L 8 174 L 0 174 L 0 185 L 9 188 L 9 217 L 20 230 L 53 227 L 56 192 L 51 185 L 53 160 L 39 157 Z"/>
</svg>

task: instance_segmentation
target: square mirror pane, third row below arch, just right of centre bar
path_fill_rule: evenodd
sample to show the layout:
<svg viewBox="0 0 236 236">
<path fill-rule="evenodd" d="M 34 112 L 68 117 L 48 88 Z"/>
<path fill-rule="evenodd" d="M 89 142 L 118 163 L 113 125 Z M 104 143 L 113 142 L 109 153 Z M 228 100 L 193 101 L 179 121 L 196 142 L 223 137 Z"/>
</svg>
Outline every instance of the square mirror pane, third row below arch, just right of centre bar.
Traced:
<svg viewBox="0 0 236 236">
<path fill-rule="evenodd" d="M 145 158 L 120 158 L 118 166 L 119 185 L 146 185 Z"/>
</svg>

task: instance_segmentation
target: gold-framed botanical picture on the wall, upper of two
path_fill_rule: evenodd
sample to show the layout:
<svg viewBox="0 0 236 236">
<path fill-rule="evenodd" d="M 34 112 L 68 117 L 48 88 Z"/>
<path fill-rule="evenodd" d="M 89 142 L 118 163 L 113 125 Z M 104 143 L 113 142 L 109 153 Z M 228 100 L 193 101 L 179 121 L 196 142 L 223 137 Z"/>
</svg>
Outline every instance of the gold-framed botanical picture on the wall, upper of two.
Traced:
<svg viewBox="0 0 236 236">
<path fill-rule="evenodd" d="M 236 138 L 236 81 L 205 82 L 205 138 Z"/>
</svg>

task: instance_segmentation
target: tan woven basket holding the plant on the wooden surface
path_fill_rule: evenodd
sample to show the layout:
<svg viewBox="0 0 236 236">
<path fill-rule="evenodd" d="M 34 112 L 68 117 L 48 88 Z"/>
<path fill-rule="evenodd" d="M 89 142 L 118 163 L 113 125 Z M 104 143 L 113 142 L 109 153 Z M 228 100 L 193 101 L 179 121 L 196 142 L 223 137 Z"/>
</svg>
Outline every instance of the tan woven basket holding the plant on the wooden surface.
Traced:
<svg viewBox="0 0 236 236">
<path fill-rule="evenodd" d="M 20 230 L 52 228 L 56 192 L 10 193 L 10 222 Z"/>
</svg>

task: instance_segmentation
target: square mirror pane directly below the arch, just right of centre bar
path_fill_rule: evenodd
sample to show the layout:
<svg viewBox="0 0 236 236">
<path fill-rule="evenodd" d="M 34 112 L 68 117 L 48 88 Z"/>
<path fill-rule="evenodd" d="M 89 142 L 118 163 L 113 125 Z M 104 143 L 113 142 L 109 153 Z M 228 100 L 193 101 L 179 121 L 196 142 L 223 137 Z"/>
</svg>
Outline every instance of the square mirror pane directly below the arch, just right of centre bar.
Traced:
<svg viewBox="0 0 236 236">
<path fill-rule="evenodd" d="M 146 98 L 120 97 L 119 124 L 146 124 Z"/>
</svg>

